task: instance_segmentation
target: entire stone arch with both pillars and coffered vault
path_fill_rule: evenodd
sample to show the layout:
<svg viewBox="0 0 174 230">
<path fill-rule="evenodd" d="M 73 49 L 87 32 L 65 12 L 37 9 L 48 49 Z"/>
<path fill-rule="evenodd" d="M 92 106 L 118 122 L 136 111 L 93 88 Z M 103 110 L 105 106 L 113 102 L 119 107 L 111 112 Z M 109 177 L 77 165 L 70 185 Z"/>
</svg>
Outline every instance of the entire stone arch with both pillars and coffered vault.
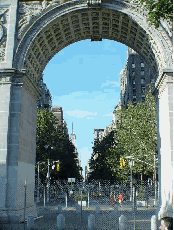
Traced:
<svg viewBox="0 0 174 230">
<path fill-rule="evenodd" d="M 0 17 L 3 18 L 0 22 L 0 135 L 3 140 L 0 219 L 22 220 L 25 180 L 26 211 L 36 214 L 34 167 L 39 79 L 59 50 L 83 39 L 121 42 L 151 64 L 158 105 L 160 215 L 173 216 L 171 25 L 162 22 L 158 29 L 150 26 L 147 12 L 136 0 L 8 0 L 8 3 L 0 1 Z"/>
</svg>

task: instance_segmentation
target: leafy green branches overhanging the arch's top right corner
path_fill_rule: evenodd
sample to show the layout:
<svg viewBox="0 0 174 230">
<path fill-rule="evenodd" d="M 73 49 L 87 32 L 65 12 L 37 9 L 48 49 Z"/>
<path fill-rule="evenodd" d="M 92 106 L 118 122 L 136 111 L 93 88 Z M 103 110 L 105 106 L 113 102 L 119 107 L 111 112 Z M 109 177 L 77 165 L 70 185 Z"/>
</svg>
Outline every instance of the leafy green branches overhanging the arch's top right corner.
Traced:
<svg viewBox="0 0 174 230">
<path fill-rule="evenodd" d="M 173 1 L 172 0 L 140 0 L 140 3 L 149 11 L 149 18 L 155 27 L 159 27 L 161 19 L 173 22 Z"/>
</svg>

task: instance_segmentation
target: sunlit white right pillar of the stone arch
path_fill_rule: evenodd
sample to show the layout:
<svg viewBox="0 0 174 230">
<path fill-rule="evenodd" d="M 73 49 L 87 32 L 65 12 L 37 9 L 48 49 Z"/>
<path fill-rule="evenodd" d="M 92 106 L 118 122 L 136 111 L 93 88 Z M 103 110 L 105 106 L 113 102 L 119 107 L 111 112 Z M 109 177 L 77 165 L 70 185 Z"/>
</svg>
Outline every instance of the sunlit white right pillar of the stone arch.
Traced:
<svg viewBox="0 0 174 230">
<path fill-rule="evenodd" d="M 156 81 L 158 124 L 158 218 L 173 217 L 173 70 L 165 69 Z"/>
</svg>

